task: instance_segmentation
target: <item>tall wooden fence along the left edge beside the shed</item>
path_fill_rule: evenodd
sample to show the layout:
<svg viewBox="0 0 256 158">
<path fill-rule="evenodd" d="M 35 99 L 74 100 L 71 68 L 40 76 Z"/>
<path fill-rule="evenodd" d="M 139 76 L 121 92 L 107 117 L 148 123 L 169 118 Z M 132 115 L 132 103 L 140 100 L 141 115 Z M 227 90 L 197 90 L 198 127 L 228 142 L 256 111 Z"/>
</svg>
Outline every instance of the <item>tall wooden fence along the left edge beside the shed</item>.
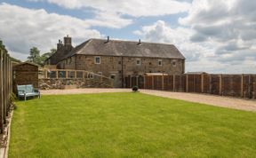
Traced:
<svg viewBox="0 0 256 158">
<path fill-rule="evenodd" d="M 12 93 L 12 62 L 4 50 L 0 49 L 0 132 L 4 132 L 6 116 L 10 111 Z"/>
</svg>

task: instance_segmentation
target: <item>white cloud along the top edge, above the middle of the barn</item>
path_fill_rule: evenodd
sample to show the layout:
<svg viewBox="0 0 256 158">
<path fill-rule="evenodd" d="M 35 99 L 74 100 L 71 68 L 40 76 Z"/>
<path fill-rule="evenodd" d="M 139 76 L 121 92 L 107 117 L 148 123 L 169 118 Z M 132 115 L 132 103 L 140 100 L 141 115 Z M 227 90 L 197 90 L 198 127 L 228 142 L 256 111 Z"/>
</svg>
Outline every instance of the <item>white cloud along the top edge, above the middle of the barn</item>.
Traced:
<svg viewBox="0 0 256 158">
<path fill-rule="evenodd" d="M 132 18 L 188 12 L 190 4 L 177 0 L 28 0 L 45 1 L 67 9 L 90 9 L 95 17 L 86 20 L 92 26 L 124 28 L 132 24 Z M 124 16 L 130 18 L 124 18 Z"/>
</svg>

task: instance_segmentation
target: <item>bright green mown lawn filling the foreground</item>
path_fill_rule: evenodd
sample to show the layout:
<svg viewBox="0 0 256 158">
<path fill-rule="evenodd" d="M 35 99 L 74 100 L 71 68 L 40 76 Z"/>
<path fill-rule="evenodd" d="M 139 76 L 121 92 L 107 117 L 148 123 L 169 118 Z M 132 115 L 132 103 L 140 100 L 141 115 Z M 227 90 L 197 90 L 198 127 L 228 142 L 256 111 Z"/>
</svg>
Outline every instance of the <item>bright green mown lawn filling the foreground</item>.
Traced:
<svg viewBox="0 0 256 158">
<path fill-rule="evenodd" d="M 9 156 L 256 157 L 256 113 L 141 93 L 17 102 Z"/>
</svg>

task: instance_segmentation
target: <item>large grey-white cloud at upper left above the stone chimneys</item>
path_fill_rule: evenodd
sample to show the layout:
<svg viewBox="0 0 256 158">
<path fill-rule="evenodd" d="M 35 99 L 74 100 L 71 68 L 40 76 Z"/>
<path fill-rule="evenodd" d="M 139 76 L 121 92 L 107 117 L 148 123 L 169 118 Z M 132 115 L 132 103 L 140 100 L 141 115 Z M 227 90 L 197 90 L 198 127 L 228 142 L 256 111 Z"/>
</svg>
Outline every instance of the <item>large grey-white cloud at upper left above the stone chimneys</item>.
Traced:
<svg viewBox="0 0 256 158">
<path fill-rule="evenodd" d="M 100 32 L 90 24 L 74 17 L 48 13 L 43 9 L 30 10 L 11 4 L 0 4 L 0 38 L 11 55 L 24 59 L 31 47 L 49 51 L 63 36 L 71 35 L 75 43 L 91 37 L 100 37 Z"/>
</svg>

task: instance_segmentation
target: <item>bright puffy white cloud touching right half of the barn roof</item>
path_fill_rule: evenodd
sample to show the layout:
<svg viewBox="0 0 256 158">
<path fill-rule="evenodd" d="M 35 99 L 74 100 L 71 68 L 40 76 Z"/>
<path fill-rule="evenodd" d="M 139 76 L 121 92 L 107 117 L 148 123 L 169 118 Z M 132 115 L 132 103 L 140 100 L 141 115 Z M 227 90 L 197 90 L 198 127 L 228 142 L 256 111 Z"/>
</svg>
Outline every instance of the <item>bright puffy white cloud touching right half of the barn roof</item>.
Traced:
<svg viewBox="0 0 256 158">
<path fill-rule="evenodd" d="M 155 24 L 144 26 L 134 34 L 142 36 L 143 40 L 157 43 L 172 43 L 185 55 L 187 61 L 199 60 L 207 54 L 211 54 L 211 49 L 197 43 L 190 43 L 189 36 L 193 33 L 189 28 L 171 28 L 163 20 L 156 21 Z"/>
</svg>

